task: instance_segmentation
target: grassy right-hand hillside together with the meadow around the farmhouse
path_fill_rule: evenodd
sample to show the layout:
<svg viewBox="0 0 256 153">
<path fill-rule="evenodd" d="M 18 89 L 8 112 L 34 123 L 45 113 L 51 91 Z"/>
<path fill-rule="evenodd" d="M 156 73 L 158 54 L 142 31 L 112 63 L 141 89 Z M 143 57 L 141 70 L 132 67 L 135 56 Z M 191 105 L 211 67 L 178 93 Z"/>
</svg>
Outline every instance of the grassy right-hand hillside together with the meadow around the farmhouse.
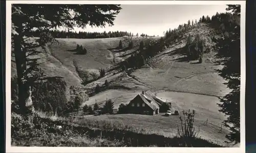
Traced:
<svg viewBox="0 0 256 153">
<path fill-rule="evenodd" d="M 203 34 L 206 37 L 208 47 L 215 45 L 210 39 L 215 34 L 214 30 L 208 25 L 199 26 L 188 33 L 191 35 Z M 177 91 L 158 93 L 158 96 L 163 99 L 177 101 L 177 103 L 173 103 L 174 110 L 196 110 L 196 122 L 198 124 L 208 119 L 208 126 L 201 126 L 201 137 L 224 143 L 224 140 L 226 140 L 225 134 L 228 133 L 228 130 L 224 128 L 222 133 L 218 133 L 225 116 L 219 113 L 217 103 L 219 103 L 218 97 L 224 96 L 229 90 L 223 84 L 225 80 L 215 72 L 215 70 L 221 69 L 222 66 L 214 63 L 217 60 L 214 52 L 204 54 L 204 62 L 201 64 L 196 63 L 198 61 L 187 62 L 182 50 L 185 43 L 184 37 L 176 45 L 155 56 L 149 64 L 150 68 L 136 70 L 133 75 L 141 80 L 140 82 L 151 86 L 153 91 Z M 86 103 L 92 105 L 97 101 L 99 104 L 103 104 L 107 97 L 113 99 L 115 108 L 117 108 L 120 103 L 127 103 L 139 92 L 141 91 L 106 91 L 91 97 Z M 177 116 L 169 119 L 162 116 L 143 115 L 99 116 L 92 117 L 92 119 L 120 121 L 124 124 L 132 124 L 135 128 L 144 126 L 146 129 L 155 132 L 162 129 L 163 132 L 160 132 L 160 134 L 168 136 L 173 136 L 176 133 L 176 121 L 178 121 Z M 156 129 L 156 127 L 159 128 Z"/>
</svg>

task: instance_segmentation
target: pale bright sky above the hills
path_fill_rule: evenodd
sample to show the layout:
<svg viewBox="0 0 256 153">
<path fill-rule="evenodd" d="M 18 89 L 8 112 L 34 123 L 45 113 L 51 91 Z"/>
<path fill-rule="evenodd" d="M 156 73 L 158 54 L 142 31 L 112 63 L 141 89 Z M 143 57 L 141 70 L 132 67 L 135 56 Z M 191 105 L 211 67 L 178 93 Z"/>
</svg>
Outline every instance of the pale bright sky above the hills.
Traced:
<svg viewBox="0 0 256 153">
<path fill-rule="evenodd" d="M 121 5 L 120 13 L 116 15 L 114 26 L 105 28 L 74 30 L 87 32 L 127 31 L 148 35 L 163 36 L 166 30 L 177 28 L 187 23 L 188 19 L 199 20 L 203 15 L 210 17 L 216 12 L 226 12 L 226 5 Z"/>
</svg>

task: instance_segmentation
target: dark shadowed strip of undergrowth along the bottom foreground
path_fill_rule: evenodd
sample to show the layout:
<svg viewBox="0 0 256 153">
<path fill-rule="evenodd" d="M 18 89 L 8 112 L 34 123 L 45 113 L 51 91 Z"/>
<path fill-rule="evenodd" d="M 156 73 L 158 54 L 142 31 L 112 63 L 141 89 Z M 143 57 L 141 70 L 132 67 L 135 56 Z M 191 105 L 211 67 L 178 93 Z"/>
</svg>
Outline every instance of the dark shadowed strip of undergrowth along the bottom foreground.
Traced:
<svg viewBox="0 0 256 153">
<path fill-rule="evenodd" d="M 100 123 L 98 123 L 100 124 Z M 62 126 L 61 129 L 57 125 Z M 92 127 L 93 128 L 93 127 Z M 32 114 L 12 114 L 11 144 L 14 146 L 159 146 L 159 147 L 222 147 L 203 139 L 193 138 L 184 143 L 182 138 L 166 138 L 155 134 L 146 135 L 118 129 L 116 126 L 93 128 L 73 125 L 67 120 L 51 120 Z M 80 139 L 83 138 L 83 139 Z M 101 141 L 99 141 L 99 139 Z M 104 141 L 102 141 L 104 140 Z M 92 143 L 94 142 L 94 143 Z"/>
</svg>

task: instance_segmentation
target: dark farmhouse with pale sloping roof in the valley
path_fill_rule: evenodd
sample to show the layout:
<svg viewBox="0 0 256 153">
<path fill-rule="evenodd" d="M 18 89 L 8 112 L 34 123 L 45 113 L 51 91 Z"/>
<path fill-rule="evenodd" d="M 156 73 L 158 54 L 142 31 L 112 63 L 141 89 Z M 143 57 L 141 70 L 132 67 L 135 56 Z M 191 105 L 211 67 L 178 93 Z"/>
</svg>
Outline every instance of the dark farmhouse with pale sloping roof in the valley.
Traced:
<svg viewBox="0 0 256 153">
<path fill-rule="evenodd" d="M 128 104 L 128 113 L 145 115 L 159 114 L 159 104 L 153 97 L 155 95 L 151 91 L 143 91 L 141 94 L 138 94 Z"/>
</svg>

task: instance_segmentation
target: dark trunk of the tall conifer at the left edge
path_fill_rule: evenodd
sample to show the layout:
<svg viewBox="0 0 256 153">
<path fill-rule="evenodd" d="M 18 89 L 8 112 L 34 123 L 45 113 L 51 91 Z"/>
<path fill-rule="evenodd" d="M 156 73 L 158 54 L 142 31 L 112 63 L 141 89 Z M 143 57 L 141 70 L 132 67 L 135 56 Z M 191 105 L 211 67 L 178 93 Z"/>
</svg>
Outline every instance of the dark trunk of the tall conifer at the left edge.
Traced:
<svg viewBox="0 0 256 153">
<path fill-rule="evenodd" d="M 16 32 L 18 35 L 13 36 L 14 40 L 14 55 L 17 71 L 17 85 L 18 85 L 18 105 L 20 107 L 20 113 L 27 113 L 26 99 L 28 98 L 27 85 L 24 80 L 24 72 L 27 69 L 26 65 L 26 52 L 22 48 L 23 41 L 23 26 L 22 23 L 17 22 Z"/>
</svg>

